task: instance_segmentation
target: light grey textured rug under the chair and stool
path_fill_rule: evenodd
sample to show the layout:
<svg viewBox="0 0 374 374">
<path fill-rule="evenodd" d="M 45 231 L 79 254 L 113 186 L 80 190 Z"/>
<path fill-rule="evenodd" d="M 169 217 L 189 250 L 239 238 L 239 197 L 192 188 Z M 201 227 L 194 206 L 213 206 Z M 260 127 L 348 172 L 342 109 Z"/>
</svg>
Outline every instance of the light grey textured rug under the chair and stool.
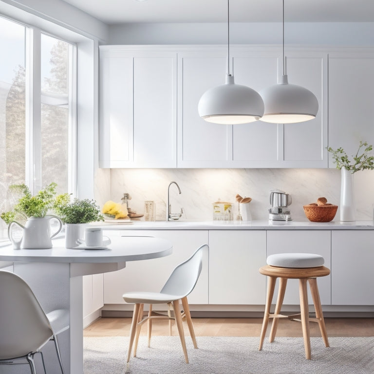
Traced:
<svg viewBox="0 0 374 374">
<path fill-rule="evenodd" d="M 85 337 L 84 374 L 374 374 L 374 337 L 311 338 L 306 360 L 302 338 L 186 337 L 189 364 L 179 337 L 140 337 L 136 357 L 126 363 L 128 337 Z"/>
</svg>

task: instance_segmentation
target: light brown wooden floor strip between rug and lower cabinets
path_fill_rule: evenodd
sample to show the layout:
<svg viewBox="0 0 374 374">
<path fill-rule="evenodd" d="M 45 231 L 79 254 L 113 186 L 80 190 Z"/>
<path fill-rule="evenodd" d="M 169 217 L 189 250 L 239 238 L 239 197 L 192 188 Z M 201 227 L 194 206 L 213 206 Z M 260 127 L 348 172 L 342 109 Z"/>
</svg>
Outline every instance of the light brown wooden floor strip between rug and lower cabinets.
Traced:
<svg viewBox="0 0 374 374">
<path fill-rule="evenodd" d="M 192 318 L 195 335 L 260 337 L 262 318 Z M 325 318 L 329 337 L 371 337 L 374 336 L 374 318 Z M 129 336 L 131 318 L 100 318 L 88 326 L 86 337 Z M 189 335 L 184 322 L 186 335 Z M 267 330 L 267 336 L 270 329 Z M 146 335 L 147 324 L 141 330 Z M 168 321 L 154 321 L 152 335 L 168 335 Z M 178 335 L 173 326 L 173 335 Z M 286 318 L 280 319 L 278 337 L 302 337 L 301 324 Z M 310 323 L 310 336 L 320 337 L 318 323 Z"/>
</svg>

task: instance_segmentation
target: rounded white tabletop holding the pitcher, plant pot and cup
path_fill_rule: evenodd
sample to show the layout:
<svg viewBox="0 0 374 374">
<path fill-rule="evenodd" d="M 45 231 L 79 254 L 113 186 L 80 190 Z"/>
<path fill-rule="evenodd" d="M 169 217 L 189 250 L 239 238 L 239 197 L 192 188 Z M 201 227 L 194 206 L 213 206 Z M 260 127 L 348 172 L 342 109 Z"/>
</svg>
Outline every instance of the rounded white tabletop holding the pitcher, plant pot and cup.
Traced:
<svg viewBox="0 0 374 374">
<path fill-rule="evenodd" d="M 165 239 L 118 236 L 111 237 L 111 240 L 107 249 L 99 250 L 65 248 L 64 238 L 53 240 L 51 249 L 13 249 L 13 245 L 7 245 L 1 247 L 0 261 L 113 263 L 154 259 L 172 253 L 172 244 Z"/>
</svg>

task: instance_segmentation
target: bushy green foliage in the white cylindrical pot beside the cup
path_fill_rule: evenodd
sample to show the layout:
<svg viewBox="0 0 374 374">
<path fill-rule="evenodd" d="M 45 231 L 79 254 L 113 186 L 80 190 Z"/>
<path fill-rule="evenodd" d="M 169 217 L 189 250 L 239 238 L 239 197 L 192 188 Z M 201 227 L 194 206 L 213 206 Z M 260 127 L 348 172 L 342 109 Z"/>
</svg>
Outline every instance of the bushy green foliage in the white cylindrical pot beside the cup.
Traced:
<svg viewBox="0 0 374 374">
<path fill-rule="evenodd" d="M 94 200 L 75 198 L 70 202 L 70 195 L 64 193 L 56 197 L 53 209 L 65 224 L 87 224 L 104 221 L 100 207 Z"/>
</svg>

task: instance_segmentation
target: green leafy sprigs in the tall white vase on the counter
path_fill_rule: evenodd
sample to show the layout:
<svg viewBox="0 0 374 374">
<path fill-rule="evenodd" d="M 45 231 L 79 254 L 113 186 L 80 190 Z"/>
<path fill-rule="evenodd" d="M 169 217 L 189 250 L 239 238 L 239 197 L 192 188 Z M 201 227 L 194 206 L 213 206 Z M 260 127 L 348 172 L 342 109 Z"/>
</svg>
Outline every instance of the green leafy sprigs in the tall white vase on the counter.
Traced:
<svg viewBox="0 0 374 374">
<path fill-rule="evenodd" d="M 363 147 L 364 149 L 362 150 Z M 358 170 L 374 169 L 374 155 L 370 154 L 373 146 L 368 145 L 367 142 L 360 141 L 356 155 L 352 156 L 353 162 L 348 158 L 343 148 L 333 150 L 331 147 L 328 147 L 327 150 L 333 154 L 334 164 L 337 165 L 337 169 L 345 168 L 350 170 L 352 174 Z"/>
</svg>

